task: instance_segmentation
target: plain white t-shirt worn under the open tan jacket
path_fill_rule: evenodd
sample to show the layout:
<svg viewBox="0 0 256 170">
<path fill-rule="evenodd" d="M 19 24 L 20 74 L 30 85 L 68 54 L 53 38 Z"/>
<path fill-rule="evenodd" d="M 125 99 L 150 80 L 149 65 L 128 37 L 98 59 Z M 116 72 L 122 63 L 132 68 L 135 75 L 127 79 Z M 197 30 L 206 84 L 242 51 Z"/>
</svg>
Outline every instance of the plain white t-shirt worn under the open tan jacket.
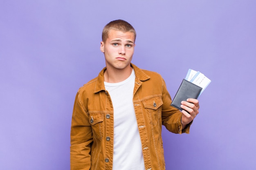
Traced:
<svg viewBox="0 0 256 170">
<path fill-rule="evenodd" d="M 123 82 L 107 83 L 114 107 L 114 156 L 112 170 L 145 170 L 141 140 L 133 107 L 135 72 Z"/>
</svg>

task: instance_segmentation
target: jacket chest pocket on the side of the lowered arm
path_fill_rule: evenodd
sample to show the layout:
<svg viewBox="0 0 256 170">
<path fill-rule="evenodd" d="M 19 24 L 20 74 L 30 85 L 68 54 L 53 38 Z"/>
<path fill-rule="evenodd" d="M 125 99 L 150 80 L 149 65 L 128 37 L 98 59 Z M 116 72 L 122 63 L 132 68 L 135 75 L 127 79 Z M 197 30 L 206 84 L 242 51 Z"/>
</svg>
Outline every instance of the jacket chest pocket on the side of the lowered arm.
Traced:
<svg viewBox="0 0 256 170">
<path fill-rule="evenodd" d="M 90 113 L 89 117 L 90 124 L 92 126 L 92 134 L 98 139 L 103 137 L 103 114 L 101 113 Z"/>
</svg>

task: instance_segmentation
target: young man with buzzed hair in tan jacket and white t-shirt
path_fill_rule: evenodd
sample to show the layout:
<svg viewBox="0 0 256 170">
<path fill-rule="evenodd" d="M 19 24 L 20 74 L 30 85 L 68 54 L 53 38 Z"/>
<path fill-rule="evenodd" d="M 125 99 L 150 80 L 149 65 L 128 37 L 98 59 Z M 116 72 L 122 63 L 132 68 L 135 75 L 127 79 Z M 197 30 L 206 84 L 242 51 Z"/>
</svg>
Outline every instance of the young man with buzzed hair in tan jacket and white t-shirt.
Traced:
<svg viewBox="0 0 256 170">
<path fill-rule="evenodd" d="M 182 112 L 170 106 L 161 75 L 131 64 L 135 38 L 124 20 L 103 29 L 106 67 L 79 89 L 74 102 L 71 170 L 165 170 L 162 125 L 189 133 L 198 100 L 183 101 Z"/>
</svg>

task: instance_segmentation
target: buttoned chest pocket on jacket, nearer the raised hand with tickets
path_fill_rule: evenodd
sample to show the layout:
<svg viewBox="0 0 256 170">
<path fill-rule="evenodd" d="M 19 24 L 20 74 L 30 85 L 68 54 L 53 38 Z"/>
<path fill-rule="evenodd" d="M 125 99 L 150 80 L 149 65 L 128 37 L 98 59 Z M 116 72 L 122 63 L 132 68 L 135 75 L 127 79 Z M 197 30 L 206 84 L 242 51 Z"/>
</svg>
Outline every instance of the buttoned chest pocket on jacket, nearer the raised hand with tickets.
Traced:
<svg viewBox="0 0 256 170">
<path fill-rule="evenodd" d="M 146 110 L 149 123 L 154 126 L 159 124 L 161 113 L 162 113 L 161 106 L 163 105 L 162 98 L 151 97 L 151 98 L 145 99 L 144 101 L 142 101 L 142 103 Z"/>
</svg>

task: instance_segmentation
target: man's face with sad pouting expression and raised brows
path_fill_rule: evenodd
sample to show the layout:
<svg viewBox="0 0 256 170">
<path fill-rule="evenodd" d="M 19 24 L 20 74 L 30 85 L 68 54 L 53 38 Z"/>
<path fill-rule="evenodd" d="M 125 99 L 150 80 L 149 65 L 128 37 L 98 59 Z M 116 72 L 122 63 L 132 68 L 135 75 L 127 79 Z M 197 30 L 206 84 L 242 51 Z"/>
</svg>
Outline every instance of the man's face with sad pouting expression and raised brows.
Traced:
<svg viewBox="0 0 256 170">
<path fill-rule="evenodd" d="M 105 55 L 107 68 L 125 69 L 130 67 L 135 47 L 134 42 L 134 33 L 110 30 L 107 40 L 101 42 L 101 51 Z"/>
</svg>

